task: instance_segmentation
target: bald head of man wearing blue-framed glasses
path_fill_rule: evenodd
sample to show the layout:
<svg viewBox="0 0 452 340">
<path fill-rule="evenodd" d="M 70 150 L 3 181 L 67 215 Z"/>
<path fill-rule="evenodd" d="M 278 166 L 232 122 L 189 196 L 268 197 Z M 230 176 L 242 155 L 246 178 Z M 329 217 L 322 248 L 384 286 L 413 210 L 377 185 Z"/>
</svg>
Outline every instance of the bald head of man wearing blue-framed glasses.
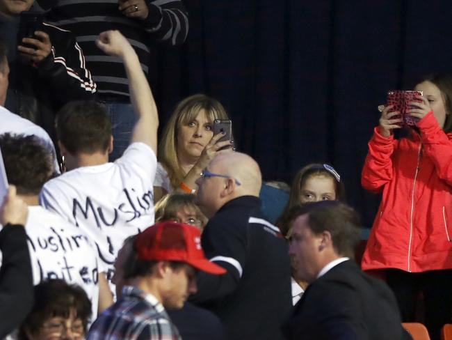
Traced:
<svg viewBox="0 0 452 340">
<path fill-rule="evenodd" d="M 207 217 L 232 199 L 240 196 L 259 196 L 262 184 L 259 165 L 244 153 L 223 153 L 216 156 L 206 168 L 210 176 L 196 181 L 196 203 Z"/>
</svg>

